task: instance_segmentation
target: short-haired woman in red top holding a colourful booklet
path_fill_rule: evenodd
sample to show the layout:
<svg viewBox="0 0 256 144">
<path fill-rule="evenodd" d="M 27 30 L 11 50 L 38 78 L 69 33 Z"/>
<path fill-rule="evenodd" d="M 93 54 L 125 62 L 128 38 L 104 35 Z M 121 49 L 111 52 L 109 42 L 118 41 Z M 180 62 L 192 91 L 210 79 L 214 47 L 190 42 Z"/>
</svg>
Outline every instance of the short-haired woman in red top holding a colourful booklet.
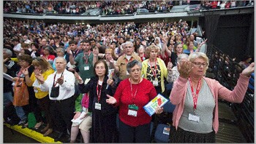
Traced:
<svg viewBox="0 0 256 144">
<path fill-rule="evenodd" d="M 157 96 L 156 89 L 147 79 L 140 77 L 141 63 L 132 60 L 127 64 L 130 78 L 118 85 L 115 95 L 108 95 L 107 103 L 119 107 L 119 142 L 150 143 L 151 116 L 143 106 Z M 157 113 L 162 108 L 157 108 Z"/>
</svg>

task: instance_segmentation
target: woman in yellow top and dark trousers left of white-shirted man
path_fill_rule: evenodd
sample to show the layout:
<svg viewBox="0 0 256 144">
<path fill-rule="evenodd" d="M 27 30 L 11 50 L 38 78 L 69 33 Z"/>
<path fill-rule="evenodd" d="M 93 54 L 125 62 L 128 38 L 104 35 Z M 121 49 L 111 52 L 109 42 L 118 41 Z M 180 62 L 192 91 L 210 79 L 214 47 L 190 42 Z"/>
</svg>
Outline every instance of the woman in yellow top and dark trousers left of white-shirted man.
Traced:
<svg viewBox="0 0 256 144">
<path fill-rule="evenodd" d="M 34 72 L 29 76 L 29 71 L 25 69 L 23 71 L 23 75 L 25 76 L 26 84 L 29 87 L 34 87 L 35 97 L 37 98 L 37 104 L 40 107 L 40 111 L 34 113 L 36 117 L 37 124 L 34 126 L 34 129 L 39 129 L 42 126 L 42 111 L 45 112 L 45 118 L 47 126 L 41 130 L 44 133 L 44 136 L 48 136 L 51 132 L 53 132 L 53 124 L 52 117 L 50 115 L 50 98 L 49 92 L 42 92 L 39 87 L 40 83 L 36 79 L 36 75 L 42 74 L 44 79 L 46 80 L 51 73 L 54 73 L 53 68 L 50 66 L 47 60 L 43 57 L 36 57 L 32 61 L 32 65 L 34 66 Z"/>
</svg>

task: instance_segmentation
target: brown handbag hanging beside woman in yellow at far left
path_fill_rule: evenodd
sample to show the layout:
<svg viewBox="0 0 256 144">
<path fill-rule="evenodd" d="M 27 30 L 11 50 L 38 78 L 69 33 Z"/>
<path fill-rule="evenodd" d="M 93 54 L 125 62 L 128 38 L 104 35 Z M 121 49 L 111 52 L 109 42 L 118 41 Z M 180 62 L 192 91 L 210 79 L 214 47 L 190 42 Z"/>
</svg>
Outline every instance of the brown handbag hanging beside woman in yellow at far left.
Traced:
<svg viewBox="0 0 256 144">
<path fill-rule="evenodd" d="M 12 104 L 15 106 L 29 105 L 29 90 L 24 79 L 17 79 L 13 88 L 14 97 Z"/>
</svg>

